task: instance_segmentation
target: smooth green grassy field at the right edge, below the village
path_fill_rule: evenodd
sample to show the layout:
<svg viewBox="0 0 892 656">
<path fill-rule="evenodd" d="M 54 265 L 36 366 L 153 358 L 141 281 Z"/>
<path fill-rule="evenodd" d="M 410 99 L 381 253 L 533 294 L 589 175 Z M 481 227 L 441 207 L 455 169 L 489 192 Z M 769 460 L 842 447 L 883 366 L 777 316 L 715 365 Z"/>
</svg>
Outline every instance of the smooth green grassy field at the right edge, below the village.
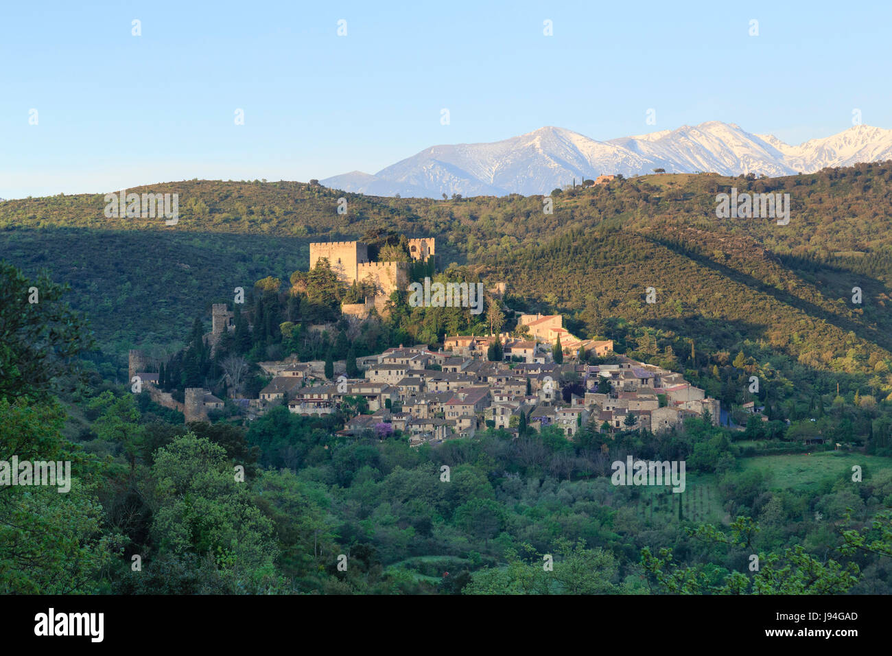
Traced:
<svg viewBox="0 0 892 656">
<path fill-rule="evenodd" d="M 758 469 L 768 473 L 771 476 L 769 486 L 773 488 L 811 490 L 828 478 L 851 477 L 854 465 L 863 469 L 863 477 L 880 469 L 892 469 L 892 458 L 828 451 L 743 458 L 740 464 L 744 469 Z"/>
</svg>

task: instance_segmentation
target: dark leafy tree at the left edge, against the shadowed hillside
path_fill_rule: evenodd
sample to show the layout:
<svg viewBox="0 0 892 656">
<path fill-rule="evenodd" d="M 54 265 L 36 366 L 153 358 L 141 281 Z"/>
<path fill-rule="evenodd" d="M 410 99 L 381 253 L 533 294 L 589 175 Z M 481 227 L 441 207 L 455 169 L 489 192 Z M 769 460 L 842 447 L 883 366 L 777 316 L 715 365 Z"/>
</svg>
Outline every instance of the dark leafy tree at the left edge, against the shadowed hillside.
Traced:
<svg viewBox="0 0 892 656">
<path fill-rule="evenodd" d="M 62 301 L 69 289 L 45 272 L 32 281 L 0 261 L 0 398 L 45 400 L 54 379 L 77 372 L 71 362 L 93 338 Z"/>
</svg>

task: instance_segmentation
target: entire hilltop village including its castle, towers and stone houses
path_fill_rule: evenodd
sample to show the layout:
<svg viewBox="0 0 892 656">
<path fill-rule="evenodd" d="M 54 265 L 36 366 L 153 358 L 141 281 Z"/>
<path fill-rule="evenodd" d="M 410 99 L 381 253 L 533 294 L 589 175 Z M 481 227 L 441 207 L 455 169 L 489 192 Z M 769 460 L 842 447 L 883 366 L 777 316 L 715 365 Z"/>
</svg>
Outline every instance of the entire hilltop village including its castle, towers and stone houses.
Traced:
<svg viewBox="0 0 892 656">
<path fill-rule="evenodd" d="M 413 260 L 425 262 L 434 255 L 434 239 L 409 240 L 409 248 Z M 377 291 L 365 303 L 344 305 L 351 317 L 383 309 L 392 291 L 408 284 L 407 262 L 369 262 L 361 242 L 310 245 L 310 268 L 322 258 L 344 282 L 364 280 Z M 234 329 L 232 317 L 225 304 L 213 305 L 208 345 Z M 501 359 L 490 361 L 496 341 Z M 559 363 L 558 350 L 565 356 Z M 603 363 L 590 364 L 592 356 Z M 720 419 L 719 402 L 681 374 L 616 355 L 612 341 L 578 338 L 563 327 L 561 315 L 521 314 L 512 333 L 447 336 L 437 350 L 400 345 L 360 357 L 350 369 L 361 377 L 348 378 L 345 361 L 334 362 L 326 377 L 323 361 L 301 362 L 296 355 L 258 365 L 269 382 L 256 398 L 242 398 L 235 387 L 226 400 L 187 387 L 179 403 L 161 392 L 158 374 L 139 351 L 130 352 L 129 376 L 156 403 L 182 411 L 186 422 L 208 420 L 227 403 L 248 419 L 284 404 L 303 416 L 339 413 L 343 435 L 402 435 L 412 445 L 473 437 L 485 428 L 519 434 L 556 426 L 572 439 L 583 426 L 608 434 L 630 428 L 659 433 L 688 416 Z"/>
</svg>

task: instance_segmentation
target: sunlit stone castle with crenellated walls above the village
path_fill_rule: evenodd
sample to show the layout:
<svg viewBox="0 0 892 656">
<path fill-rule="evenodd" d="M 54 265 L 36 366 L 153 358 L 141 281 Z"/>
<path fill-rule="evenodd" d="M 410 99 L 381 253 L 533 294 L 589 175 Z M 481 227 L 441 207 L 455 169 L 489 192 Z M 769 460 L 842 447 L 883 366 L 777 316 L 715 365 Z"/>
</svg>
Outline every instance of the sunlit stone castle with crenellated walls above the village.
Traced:
<svg viewBox="0 0 892 656">
<path fill-rule="evenodd" d="M 416 262 L 427 262 L 435 257 L 434 237 L 409 239 L 409 256 Z M 354 282 L 370 282 L 376 287 L 374 298 L 366 303 L 351 303 L 342 306 L 344 314 L 363 317 L 368 316 L 372 307 L 380 313 L 390 295 L 409 285 L 408 262 L 370 262 L 368 245 L 362 242 L 316 242 L 310 244 L 310 269 L 313 269 L 322 258 L 335 275 L 348 285 Z"/>
</svg>

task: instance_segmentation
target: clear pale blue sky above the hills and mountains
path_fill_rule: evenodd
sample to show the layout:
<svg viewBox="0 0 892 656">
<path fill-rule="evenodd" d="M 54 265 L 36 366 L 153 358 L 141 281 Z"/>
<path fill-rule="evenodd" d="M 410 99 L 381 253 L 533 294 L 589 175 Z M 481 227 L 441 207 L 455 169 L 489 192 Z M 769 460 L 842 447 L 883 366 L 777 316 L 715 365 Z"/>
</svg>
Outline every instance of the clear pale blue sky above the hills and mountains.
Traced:
<svg viewBox="0 0 892 656">
<path fill-rule="evenodd" d="M 890 24 L 888 2 L 7 0 L 0 197 L 374 173 L 545 125 L 609 139 L 723 120 L 800 143 L 859 108 L 892 128 Z"/>
</svg>

